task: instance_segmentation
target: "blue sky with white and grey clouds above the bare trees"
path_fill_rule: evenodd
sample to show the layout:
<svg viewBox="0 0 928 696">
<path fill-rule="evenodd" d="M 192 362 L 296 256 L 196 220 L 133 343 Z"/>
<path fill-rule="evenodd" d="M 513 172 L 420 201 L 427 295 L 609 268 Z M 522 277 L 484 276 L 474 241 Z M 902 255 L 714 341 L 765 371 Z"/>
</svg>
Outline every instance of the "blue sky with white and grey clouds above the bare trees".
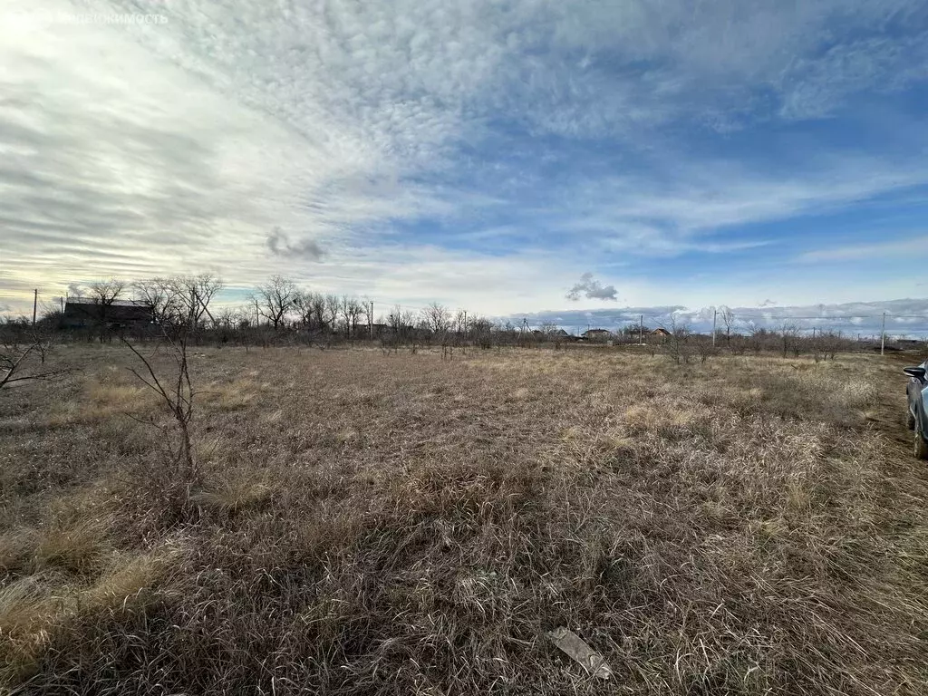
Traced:
<svg viewBox="0 0 928 696">
<path fill-rule="evenodd" d="M 0 312 L 210 271 L 928 329 L 923 0 L 35 6 L 0 6 Z"/>
</svg>

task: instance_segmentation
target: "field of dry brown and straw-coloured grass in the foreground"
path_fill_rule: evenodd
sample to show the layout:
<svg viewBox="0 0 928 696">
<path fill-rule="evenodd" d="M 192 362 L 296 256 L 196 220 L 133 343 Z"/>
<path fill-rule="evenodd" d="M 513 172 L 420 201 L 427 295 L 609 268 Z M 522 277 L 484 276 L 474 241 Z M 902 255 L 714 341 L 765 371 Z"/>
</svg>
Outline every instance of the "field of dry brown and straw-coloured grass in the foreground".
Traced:
<svg viewBox="0 0 928 696">
<path fill-rule="evenodd" d="M 132 354 L 54 359 L 0 393 L 15 693 L 928 692 L 888 357 L 198 349 L 187 487 Z"/>
</svg>

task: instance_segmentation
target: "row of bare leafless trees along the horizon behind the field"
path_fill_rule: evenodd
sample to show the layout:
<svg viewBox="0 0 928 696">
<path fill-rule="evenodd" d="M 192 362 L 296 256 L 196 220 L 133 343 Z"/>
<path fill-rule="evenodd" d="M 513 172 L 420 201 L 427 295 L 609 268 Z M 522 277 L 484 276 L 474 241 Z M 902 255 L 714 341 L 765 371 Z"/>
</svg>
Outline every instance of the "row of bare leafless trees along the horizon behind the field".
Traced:
<svg viewBox="0 0 928 696">
<path fill-rule="evenodd" d="M 462 309 L 452 311 L 441 303 L 431 303 L 419 310 L 394 305 L 375 316 L 374 304 L 365 298 L 308 290 L 292 278 L 280 275 L 255 286 L 237 306 L 216 303 L 225 289 L 222 278 L 211 273 L 134 282 L 119 278 L 99 280 L 76 289 L 68 298 L 69 305 L 83 306 L 83 326 L 75 326 L 73 316 L 67 316 L 62 303 L 45 305 L 38 329 L 83 329 L 88 340 L 100 341 L 110 341 L 121 333 L 145 338 L 165 332 L 176 334 L 183 329 L 194 341 L 245 344 L 380 339 L 392 345 L 411 342 L 488 347 L 541 342 L 560 345 L 578 338 L 567 335 L 553 323 L 536 329 L 516 327 L 509 321 L 493 321 Z M 136 309 L 143 308 L 144 313 L 136 314 L 135 320 L 126 318 L 126 301 Z M 647 342 L 652 348 L 663 345 L 664 352 L 682 360 L 688 354 L 704 357 L 719 351 L 831 356 L 836 351 L 860 349 L 860 345 L 840 333 L 819 332 L 809 337 L 795 326 L 769 330 L 748 323 L 741 327 L 726 307 L 721 308 L 718 318 L 715 342 L 711 334 L 694 333 L 675 316 L 660 325 L 665 329 L 661 336 L 649 336 L 650 328 L 636 324 L 590 335 L 586 342 L 613 345 Z M 5 325 L 7 335 L 16 330 L 15 325 L 19 325 L 20 333 L 32 329 L 27 317 L 6 320 Z"/>
</svg>

